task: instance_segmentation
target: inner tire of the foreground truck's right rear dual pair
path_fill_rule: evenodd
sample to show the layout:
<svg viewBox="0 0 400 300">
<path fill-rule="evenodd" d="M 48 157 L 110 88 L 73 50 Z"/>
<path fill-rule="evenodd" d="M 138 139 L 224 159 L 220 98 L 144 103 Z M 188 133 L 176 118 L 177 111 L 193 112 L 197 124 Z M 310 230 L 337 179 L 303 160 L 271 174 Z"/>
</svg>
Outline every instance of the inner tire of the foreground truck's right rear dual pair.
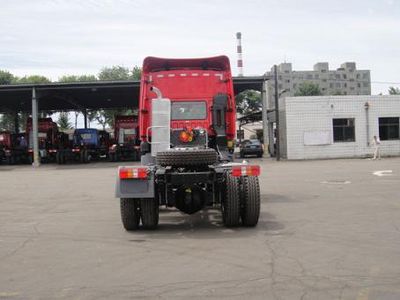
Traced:
<svg viewBox="0 0 400 300">
<path fill-rule="evenodd" d="M 222 199 L 222 219 L 227 227 L 238 226 L 240 223 L 239 181 L 232 174 L 226 173 Z"/>
</svg>

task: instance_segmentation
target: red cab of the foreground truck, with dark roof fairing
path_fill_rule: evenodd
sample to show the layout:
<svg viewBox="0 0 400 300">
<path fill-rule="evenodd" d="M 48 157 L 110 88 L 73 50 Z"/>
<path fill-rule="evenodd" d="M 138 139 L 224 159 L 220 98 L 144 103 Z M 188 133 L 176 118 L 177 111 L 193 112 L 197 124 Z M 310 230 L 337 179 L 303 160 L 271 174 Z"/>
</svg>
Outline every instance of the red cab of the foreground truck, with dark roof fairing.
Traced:
<svg viewBox="0 0 400 300">
<path fill-rule="evenodd" d="M 198 146 L 207 136 L 207 147 L 221 155 L 233 152 L 236 108 L 229 59 L 162 59 L 148 57 L 143 63 L 139 103 L 142 153 L 150 152 L 151 99 L 154 88 L 171 101 L 171 147 Z M 155 129 L 153 129 L 155 130 Z M 205 135 L 201 136 L 199 130 Z M 185 133 L 186 132 L 186 133 Z M 187 138 L 185 138 L 187 136 Z"/>
</svg>

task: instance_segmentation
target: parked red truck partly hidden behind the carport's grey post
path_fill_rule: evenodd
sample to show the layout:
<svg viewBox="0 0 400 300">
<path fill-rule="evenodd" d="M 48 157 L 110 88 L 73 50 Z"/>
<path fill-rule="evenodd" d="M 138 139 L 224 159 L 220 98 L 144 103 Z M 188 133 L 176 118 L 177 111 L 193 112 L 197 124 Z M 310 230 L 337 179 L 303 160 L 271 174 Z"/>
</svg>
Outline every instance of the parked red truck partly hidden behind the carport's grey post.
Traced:
<svg viewBox="0 0 400 300">
<path fill-rule="evenodd" d="M 58 131 L 57 123 L 51 118 L 39 118 L 38 120 L 38 139 L 39 156 L 42 162 L 55 162 L 58 158 L 58 151 L 65 142 L 65 134 Z M 32 119 L 29 118 L 26 125 L 26 138 L 28 141 L 29 161 L 33 162 L 33 132 Z"/>
</svg>

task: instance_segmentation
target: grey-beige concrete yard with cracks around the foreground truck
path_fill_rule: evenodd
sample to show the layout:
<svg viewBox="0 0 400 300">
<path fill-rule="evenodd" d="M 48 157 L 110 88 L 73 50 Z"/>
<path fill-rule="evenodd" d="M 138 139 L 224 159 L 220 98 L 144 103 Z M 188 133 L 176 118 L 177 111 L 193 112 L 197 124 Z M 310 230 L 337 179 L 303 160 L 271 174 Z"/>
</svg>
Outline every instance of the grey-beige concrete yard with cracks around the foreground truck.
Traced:
<svg viewBox="0 0 400 300">
<path fill-rule="evenodd" d="M 0 299 L 400 299 L 400 158 L 252 161 L 256 228 L 164 209 L 138 232 L 117 164 L 0 166 Z"/>
</svg>

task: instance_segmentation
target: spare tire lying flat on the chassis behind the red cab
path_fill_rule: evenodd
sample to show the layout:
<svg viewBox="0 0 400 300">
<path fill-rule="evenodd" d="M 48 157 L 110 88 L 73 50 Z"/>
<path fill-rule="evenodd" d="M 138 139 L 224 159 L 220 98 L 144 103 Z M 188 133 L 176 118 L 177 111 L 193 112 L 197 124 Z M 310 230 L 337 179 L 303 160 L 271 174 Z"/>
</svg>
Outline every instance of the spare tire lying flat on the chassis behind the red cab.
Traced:
<svg viewBox="0 0 400 300">
<path fill-rule="evenodd" d="M 163 167 L 208 166 L 217 161 L 217 152 L 212 149 L 169 150 L 157 153 L 157 164 Z"/>
</svg>

